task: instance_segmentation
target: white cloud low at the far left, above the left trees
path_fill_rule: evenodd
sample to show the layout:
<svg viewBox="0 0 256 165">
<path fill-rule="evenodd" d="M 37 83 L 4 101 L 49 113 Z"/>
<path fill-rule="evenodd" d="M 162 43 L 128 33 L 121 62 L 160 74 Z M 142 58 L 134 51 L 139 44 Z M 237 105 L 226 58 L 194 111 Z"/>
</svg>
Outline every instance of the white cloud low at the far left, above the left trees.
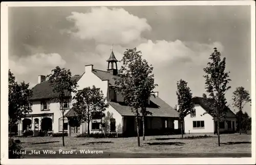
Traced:
<svg viewBox="0 0 256 165">
<path fill-rule="evenodd" d="M 47 75 L 56 66 L 65 66 L 66 61 L 58 53 L 36 53 L 24 58 L 10 58 L 9 69 L 19 81 L 36 82 L 37 75 Z"/>
</svg>

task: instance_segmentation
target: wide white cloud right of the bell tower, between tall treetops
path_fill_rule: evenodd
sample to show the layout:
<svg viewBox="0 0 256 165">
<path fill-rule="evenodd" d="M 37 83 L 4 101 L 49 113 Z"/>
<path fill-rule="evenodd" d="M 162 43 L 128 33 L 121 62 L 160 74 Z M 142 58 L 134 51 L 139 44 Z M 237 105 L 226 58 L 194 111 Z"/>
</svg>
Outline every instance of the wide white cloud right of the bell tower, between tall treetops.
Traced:
<svg viewBox="0 0 256 165">
<path fill-rule="evenodd" d="M 141 50 L 143 57 L 153 65 L 161 66 L 164 63 L 177 62 L 177 60 L 201 65 L 205 64 L 214 47 L 223 51 L 223 46 L 219 42 L 202 44 L 180 40 L 157 40 L 155 42 L 148 40 L 146 43 L 138 45 L 137 49 Z"/>
</svg>

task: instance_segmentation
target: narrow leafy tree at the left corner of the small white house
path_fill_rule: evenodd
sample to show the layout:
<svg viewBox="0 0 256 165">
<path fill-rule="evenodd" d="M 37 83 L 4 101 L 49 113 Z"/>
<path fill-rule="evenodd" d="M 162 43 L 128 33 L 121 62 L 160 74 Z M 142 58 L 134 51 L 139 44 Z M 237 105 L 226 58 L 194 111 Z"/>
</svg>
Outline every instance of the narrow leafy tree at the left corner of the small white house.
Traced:
<svg viewBox="0 0 256 165">
<path fill-rule="evenodd" d="M 187 87 L 186 81 L 180 79 L 177 82 L 176 94 L 178 97 L 178 106 L 176 108 L 181 121 L 181 137 L 183 138 L 184 118 L 195 111 L 195 106 L 192 100 L 191 90 Z"/>
</svg>

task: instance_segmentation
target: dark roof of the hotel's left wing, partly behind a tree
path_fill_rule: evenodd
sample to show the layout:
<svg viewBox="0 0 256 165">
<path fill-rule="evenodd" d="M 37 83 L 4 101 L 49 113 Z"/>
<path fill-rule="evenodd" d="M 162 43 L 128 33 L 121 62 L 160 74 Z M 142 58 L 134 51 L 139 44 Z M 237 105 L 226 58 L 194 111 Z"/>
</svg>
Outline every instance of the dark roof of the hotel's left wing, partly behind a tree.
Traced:
<svg viewBox="0 0 256 165">
<path fill-rule="evenodd" d="M 78 81 L 81 78 L 81 75 L 73 76 L 72 79 Z M 53 87 L 50 86 L 50 82 L 43 81 L 40 84 L 37 84 L 32 89 L 32 97 L 30 100 L 40 100 L 40 99 L 49 99 L 49 98 L 57 98 L 57 93 L 53 92 Z M 71 97 L 71 93 L 67 93 L 67 97 Z"/>
</svg>

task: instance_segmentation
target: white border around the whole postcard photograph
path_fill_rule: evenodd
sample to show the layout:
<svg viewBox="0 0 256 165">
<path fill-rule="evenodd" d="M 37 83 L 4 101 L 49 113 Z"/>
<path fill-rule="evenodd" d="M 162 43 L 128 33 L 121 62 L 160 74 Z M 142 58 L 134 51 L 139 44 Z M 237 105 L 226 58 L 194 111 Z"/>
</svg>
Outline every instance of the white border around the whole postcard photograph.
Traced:
<svg viewBox="0 0 256 165">
<path fill-rule="evenodd" d="M 8 159 L 8 7 L 37 6 L 233 6 L 251 7 L 251 158 L 86 158 Z M 2 2 L 1 3 L 1 163 L 2 164 L 255 164 L 255 1 L 140 1 L 140 2 Z M 76 160 L 76 161 L 75 161 Z M 86 161 L 85 161 L 86 160 Z"/>
</svg>

